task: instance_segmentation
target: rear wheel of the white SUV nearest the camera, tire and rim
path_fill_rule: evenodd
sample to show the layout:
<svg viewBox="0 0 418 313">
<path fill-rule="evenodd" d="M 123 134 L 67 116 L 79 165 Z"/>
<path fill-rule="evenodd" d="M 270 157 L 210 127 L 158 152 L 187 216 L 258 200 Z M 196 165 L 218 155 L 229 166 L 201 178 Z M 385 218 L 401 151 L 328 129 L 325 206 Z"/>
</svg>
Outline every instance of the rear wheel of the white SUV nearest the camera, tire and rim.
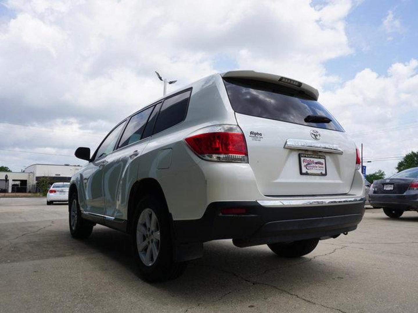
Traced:
<svg viewBox="0 0 418 313">
<path fill-rule="evenodd" d="M 145 280 L 162 282 L 184 273 L 186 263 L 173 261 L 171 221 L 160 199 L 148 195 L 139 201 L 131 233 L 135 261 Z"/>
</svg>

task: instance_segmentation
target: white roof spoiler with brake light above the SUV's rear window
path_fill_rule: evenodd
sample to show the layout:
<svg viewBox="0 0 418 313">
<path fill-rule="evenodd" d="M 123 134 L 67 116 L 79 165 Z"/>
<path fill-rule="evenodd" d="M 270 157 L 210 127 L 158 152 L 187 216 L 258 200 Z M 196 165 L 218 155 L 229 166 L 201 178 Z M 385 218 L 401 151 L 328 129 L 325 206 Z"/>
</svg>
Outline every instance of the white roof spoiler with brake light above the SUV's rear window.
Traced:
<svg viewBox="0 0 418 313">
<path fill-rule="evenodd" d="M 252 81 L 265 81 L 266 83 L 273 83 L 286 89 L 290 89 L 293 93 L 295 93 L 295 95 L 304 96 L 315 101 L 318 100 L 319 97 L 319 92 L 314 87 L 283 76 L 255 71 L 229 71 L 222 73 L 221 76 L 223 78 L 241 78 Z"/>
</svg>

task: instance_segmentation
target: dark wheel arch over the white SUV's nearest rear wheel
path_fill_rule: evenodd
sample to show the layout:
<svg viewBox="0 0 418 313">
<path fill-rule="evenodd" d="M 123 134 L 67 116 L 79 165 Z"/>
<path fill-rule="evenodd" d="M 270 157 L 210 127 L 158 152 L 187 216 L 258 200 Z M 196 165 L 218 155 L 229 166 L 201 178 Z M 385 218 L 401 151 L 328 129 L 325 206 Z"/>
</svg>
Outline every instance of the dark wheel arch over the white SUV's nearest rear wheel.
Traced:
<svg viewBox="0 0 418 313">
<path fill-rule="evenodd" d="M 143 178 L 135 182 L 130 190 L 127 210 L 127 233 L 131 232 L 135 215 L 135 208 L 138 201 L 148 194 L 152 194 L 158 199 L 161 199 L 163 204 L 165 204 L 167 212 L 170 213 L 167 206 L 166 196 L 164 194 L 163 188 L 161 187 L 161 184 L 155 178 Z"/>
</svg>

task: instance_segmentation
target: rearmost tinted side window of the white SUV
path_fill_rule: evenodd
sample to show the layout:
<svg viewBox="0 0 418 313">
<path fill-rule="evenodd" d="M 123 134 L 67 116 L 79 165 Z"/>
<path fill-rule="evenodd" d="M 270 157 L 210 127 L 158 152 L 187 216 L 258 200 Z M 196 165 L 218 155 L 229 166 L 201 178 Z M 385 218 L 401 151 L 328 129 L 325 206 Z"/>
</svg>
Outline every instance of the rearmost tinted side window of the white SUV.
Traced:
<svg viewBox="0 0 418 313">
<path fill-rule="evenodd" d="M 155 122 L 154 134 L 168 129 L 186 118 L 191 90 L 164 100 Z"/>
</svg>

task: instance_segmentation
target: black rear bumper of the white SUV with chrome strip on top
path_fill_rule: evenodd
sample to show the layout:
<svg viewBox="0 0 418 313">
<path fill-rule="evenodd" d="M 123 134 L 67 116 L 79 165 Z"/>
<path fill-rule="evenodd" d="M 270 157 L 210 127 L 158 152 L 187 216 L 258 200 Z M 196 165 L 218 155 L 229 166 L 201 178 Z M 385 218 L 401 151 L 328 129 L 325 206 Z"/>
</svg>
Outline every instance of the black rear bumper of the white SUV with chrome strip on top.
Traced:
<svg viewBox="0 0 418 313">
<path fill-rule="evenodd" d="M 223 215 L 223 208 L 245 208 Z M 178 242 L 234 239 L 238 246 L 331 237 L 355 230 L 364 197 L 212 202 L 199 220 L 174 221 Z"/>
</svg>

